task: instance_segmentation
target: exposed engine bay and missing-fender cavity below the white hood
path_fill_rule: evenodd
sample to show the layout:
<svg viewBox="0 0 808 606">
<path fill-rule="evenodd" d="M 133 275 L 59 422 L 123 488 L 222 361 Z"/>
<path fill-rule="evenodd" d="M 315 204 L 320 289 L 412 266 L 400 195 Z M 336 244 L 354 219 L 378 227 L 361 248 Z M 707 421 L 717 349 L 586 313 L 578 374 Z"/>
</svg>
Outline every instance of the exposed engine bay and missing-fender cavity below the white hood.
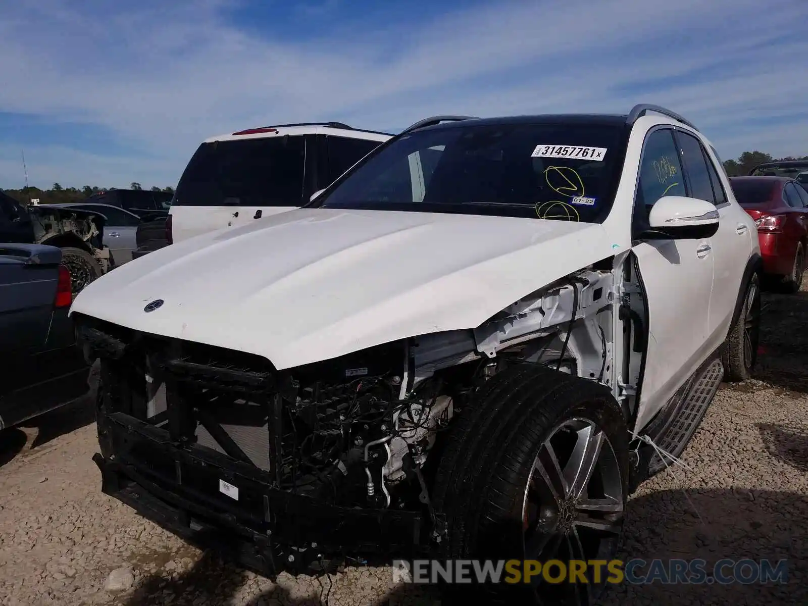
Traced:
<svg viewBox="0 0 808 606">
<path fill-rule="evenodd" d="M 129 419 L 128 433 L 218 452 L 234 461 L 234 470 L 254 469 L 273 490 L 339 508 L 422 511 L 431 520 L 429 536 L 440 541 L 430 502 L 440 437 L 503 368 L 546 364 L 598 381 L 612 389 L 627 418 L 636 414 L 646 325 L 633 259 L 625 260 L 614 267 L 615 259 L 605 259 L 549 284 L 473 330 L 283 371 L 259 356 L 77 314 L 86 356 L 102 359 L 103 457 L 141 466 L 160 486 L 189 482 L 184 464 L 112 436 L 106 419 Z M 230 484 L 219 486 L 227 494 Z M 230 497 L 246 499 L 238 489 Z M 274 506 L 263 499 L 268 524 Z"/>
</svg>

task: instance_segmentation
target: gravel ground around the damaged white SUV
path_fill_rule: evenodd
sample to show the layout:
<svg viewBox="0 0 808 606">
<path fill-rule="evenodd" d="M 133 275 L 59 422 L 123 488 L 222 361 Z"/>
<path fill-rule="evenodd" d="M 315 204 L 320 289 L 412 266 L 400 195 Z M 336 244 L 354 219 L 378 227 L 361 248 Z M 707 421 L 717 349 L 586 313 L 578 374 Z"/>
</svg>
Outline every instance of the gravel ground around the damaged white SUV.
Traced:
<svg viewBox="0 0 808 606">
<path fill-rule="evenodd" d="M 765 295 L 755 379 L 722 386 L 684 454 L 692 470 L 633 495 L 621 554 L 787 558 L 789 583 L 624 584 L 604 604 L 808 604 L 806 361 L 808 292 Z M 271 583 L 185 545 L 101 494 L 92 421 L 86 398 L 0 433 L 0 604 L 439 603 L 386 568 Z"/>
</svg>

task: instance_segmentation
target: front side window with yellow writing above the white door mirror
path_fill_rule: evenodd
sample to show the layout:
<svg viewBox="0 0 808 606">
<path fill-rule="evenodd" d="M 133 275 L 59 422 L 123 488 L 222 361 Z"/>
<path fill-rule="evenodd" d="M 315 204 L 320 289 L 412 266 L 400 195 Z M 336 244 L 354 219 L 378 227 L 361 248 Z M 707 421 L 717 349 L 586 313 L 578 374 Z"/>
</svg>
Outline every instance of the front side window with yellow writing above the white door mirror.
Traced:
<svg viewBox="0 0 808 606">
<path fill-rule="evenodd" d="M 668 128 L 655 130 L 646 139 L 635 205 L 642 204 L 650 211 L 663 196 L 687 196 L 679 152 Z"/>
</svg>

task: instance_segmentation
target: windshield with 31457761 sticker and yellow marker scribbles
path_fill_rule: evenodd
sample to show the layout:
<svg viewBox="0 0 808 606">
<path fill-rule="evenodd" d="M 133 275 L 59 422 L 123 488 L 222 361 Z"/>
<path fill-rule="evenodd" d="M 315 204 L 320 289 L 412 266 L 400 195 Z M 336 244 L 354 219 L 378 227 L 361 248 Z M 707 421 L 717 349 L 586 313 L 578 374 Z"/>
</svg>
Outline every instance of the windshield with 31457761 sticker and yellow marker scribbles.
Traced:
<svg viewBox="0 0 808 606">
<path fill-rule="evenodd" d="M 622 125 L 478 124 L 409 133 L 313 206 L 600 222 Z"/>
</svg>

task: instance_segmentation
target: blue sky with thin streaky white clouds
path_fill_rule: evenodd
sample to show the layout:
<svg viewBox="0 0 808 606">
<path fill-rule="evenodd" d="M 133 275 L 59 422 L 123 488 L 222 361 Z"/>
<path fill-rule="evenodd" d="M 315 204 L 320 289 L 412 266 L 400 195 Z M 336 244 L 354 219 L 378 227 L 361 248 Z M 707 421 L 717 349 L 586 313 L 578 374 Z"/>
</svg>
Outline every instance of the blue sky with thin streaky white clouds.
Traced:
<svg viewBox="0 0 808 606">
<path fill-rule="evenodd" d="M 175 185 L 204 138 L 425 116 L 688 116 L 808 154 L 806 0 L 23 0 L 0 10 L 0 187 Z"/>
</svg>

